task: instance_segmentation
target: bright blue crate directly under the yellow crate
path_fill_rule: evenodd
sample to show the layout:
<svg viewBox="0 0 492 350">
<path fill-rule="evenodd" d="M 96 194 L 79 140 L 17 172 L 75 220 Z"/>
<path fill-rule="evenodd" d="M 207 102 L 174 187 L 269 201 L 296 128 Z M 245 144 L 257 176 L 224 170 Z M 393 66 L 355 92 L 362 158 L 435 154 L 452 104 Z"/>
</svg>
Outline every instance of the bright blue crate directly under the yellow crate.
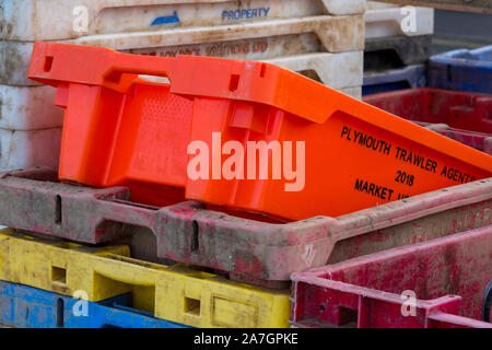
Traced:
<svg viewBox="0 0 492 350">
<path fill-rule="evenodd" d="M 74 298 L 0 281 L 0 324 L 16 328 L 189 328 L 132 310 L 131 294 L 86 302 L 85 310 L 78 302 Z M 74 311 L 86 313 L 78 316 Z"/>
</svg>

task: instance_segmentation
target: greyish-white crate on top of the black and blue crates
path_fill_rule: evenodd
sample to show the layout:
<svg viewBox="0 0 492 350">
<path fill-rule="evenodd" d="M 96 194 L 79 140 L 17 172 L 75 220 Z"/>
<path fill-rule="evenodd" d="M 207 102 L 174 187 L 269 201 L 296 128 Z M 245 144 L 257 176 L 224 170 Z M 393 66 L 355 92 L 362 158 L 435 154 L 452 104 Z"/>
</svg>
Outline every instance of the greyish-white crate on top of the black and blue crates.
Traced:
<svg viewBox="0 0 492 350">
<path fill-rule="evenodd" d="M 365 37 L 419 36 L 434 33 L 434 9 L 419 7 L 412 7 L 413 10 L 402 9 L 394 3 L 368 1 L 365 12 Z M 411 23 L 414 23 L 414 26 Z"/>
</svg>

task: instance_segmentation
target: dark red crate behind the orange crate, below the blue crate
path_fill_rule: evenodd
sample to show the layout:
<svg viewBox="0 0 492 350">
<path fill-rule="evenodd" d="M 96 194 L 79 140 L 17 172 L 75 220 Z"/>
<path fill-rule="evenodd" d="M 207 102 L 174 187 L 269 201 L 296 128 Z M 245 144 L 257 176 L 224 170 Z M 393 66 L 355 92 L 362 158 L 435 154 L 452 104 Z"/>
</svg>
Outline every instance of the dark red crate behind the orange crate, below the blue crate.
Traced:
<svg viewBox="0 0 492 350">
<path fill-rule="evenodd" d="M 492 96 L 422 88 L 367 95 L 364 102 L 409 120 L 492 135 Z"/>
</svg>

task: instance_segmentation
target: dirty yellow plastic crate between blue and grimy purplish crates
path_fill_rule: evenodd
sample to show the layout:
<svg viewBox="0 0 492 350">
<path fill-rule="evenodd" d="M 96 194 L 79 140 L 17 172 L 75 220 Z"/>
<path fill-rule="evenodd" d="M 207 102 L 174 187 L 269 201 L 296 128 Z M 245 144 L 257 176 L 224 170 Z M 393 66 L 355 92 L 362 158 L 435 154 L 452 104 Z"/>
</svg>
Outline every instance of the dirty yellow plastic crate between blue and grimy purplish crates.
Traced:
<svg viewBox="0 0 492 350">
<path fill-rule="evenodd" d="M 289 290 L 233 282 L 179 264 L 129 257 L 128 246 L 85 247 L 0 231 L 0 279 L 90 301 L 131 292 L 133 307 L 192 327 L 289 327 Z"/>
</svg>

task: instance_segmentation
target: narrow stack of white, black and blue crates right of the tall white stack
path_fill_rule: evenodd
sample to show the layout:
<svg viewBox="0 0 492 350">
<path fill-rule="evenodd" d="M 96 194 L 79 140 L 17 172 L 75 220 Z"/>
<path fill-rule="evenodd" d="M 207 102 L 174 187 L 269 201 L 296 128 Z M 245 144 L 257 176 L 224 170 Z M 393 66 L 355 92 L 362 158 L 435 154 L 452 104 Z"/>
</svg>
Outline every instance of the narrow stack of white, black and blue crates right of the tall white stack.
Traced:
<svg viewBox="0 0 492 350">
<path fill-rule="evenodd" d="M 434 9 L 368 1 L 363 94 L 424 86 L 433 33 Z"/>
</svg>

